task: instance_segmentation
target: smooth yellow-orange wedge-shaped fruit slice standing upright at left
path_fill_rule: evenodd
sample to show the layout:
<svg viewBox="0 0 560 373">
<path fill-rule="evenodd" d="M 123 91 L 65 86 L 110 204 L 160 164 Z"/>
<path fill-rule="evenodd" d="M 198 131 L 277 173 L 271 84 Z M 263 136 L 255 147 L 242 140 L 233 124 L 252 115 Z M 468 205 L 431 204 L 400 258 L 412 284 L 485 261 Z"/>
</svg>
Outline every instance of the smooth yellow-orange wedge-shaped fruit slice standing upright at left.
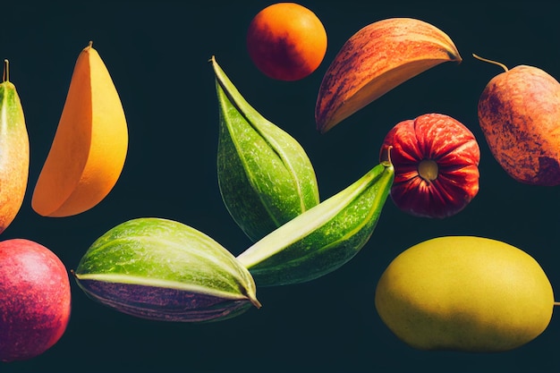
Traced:
<svg viewBox="0 0 560 373">
<path fill-rule="evenodd" d="M 98 51 L 85 47 L 74 66 L 55 139 L 33 191 L 41 216 L 72 216 L 113 189 L 128 149 L 121 99 Z"/>
</svg>

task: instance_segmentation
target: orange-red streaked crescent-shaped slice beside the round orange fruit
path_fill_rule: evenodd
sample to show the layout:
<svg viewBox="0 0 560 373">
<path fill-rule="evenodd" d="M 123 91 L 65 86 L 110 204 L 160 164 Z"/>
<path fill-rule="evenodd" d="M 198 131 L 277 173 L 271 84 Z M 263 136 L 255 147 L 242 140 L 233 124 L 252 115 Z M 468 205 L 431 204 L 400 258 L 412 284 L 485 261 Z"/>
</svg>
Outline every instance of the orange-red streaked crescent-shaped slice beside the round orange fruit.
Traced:
<svg viewBox="0 0 560 373">
<path fill-rule="evenodd" d="M 324 133 L 404 81 L 448 61 L 462 61 L 454 42 L 413 18 L 370 23 L 349 38 L 323 77 L 315 108 Z"/>
</svg>

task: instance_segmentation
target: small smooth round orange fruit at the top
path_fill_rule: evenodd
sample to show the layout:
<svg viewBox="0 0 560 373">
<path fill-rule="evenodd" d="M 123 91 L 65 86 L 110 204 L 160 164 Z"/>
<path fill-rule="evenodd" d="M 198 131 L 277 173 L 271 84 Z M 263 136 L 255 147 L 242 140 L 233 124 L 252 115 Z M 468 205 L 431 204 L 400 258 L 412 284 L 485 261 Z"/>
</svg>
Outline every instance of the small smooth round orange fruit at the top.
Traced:
<svg viewBox="0 0 560 373">
<path fill-rule="evenodd" d="M 269 78 L 299 81 L 317 70 L 327 53 L 327 31 L 310 9 L 276 3 L 261 10 L 247 32 L 250 59 Z"/>
</svg>

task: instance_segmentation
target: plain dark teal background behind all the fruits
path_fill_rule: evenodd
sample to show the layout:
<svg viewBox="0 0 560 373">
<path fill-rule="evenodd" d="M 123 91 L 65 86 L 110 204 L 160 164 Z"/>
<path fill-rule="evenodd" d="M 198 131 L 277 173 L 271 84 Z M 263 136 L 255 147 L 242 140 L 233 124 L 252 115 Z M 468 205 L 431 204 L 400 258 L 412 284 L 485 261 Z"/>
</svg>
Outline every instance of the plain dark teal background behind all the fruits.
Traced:
<svg viewBox="0 0 560 373">
<path fill-rule="evenodd" d="M 140 216 L 191 225 L 234 254 L 249 247 L 217 188 L 218 108 L 211 55 L 252 106 L 306 148 L 321 199 L 378 164 L 381 141 L 395 123 L 427 113 L 449 114 L 477 136 L 477 197 L 445 220 L 408 216 L 388 200 L 369 243 L 344 267 L 308 284 L 258 289 L 262 309 L 214 324 L 132 318 L 90 301 L 72 280 L 72 318 L 62 339 L 36 359 L 0 363 L 0 372 L 560 371 L 556 317 L 537 339 L 512 352 L 420 352 L 388 331 L 373 301 L 379 276 L 398 253 L 452 234 L 486 236 L 526 250 L 560 288 L 560 187 L 514 182 L 497 165 L 479 130 L 476 106 L 487 82 L 502 71 L 471 56 L 509 67 L 530 64 L 560 77 L 560 7 L 539 1 L 302 1 L 327 29 L 327 55 L 308 78 L 282 82 L 257 71 L 245 48 L 249 22 L 267 4 L 4 2 L 0 57 L 10 60 L 11 81 L 26 114 L 31 163 L 21 212 L 1 238 L 40 242 L 69 270 L 99 235 Z M 438 65 L 320 135 L 315 100 L 336 52 L 361 27 L 401 16 L 444 30 L 462 64 Z M 96 208 L 79 216 L 41 217 L 31 210 L 30 195 L 73 65 L 89 40 L 122 97 L 129 154 L 115 189 Z"/>
</svg>

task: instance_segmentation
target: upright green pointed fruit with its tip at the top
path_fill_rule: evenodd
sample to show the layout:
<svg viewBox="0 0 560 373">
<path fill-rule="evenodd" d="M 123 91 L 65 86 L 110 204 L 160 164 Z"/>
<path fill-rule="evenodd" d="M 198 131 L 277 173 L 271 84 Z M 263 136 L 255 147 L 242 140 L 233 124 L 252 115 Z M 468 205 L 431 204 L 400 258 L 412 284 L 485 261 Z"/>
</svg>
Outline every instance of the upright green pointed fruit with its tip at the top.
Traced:
<svg viewBox="0 0 560 373">
<path fill-rule="evenodd" d="M 256 242 L 318 205 L 310 158 L 288 132 L 242 97 L 211 58 L 219 104 L 217 178 L 233 220 Z"/>
</svg>

